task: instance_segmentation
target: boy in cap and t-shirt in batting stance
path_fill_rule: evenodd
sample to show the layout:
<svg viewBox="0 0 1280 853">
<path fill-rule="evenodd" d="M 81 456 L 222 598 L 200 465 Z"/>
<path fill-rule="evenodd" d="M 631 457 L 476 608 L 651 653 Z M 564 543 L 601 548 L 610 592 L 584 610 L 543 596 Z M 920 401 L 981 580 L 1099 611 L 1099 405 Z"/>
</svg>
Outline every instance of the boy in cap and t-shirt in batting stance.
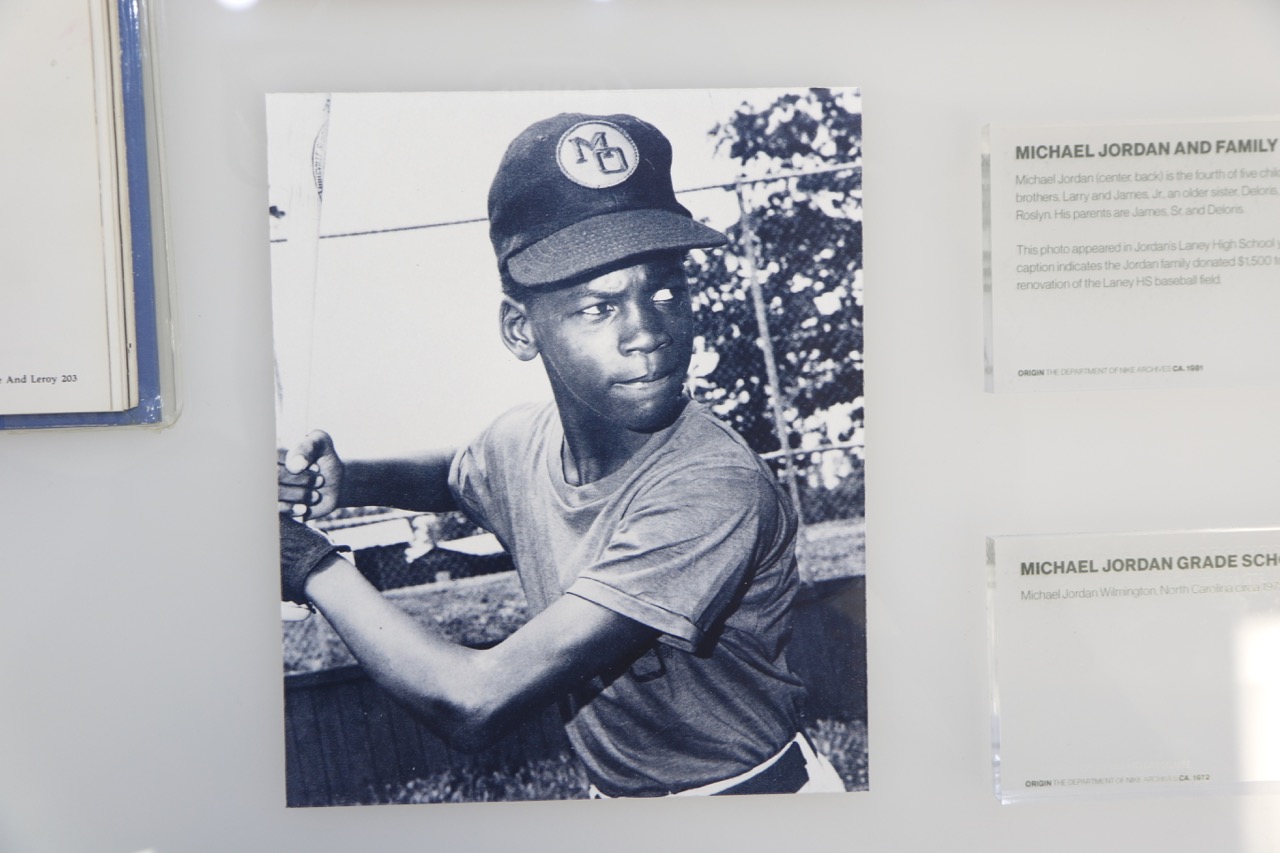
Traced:
<svg viewBox="0 0 1280 853">
<path fill-rule="evenodd" d="M 681 260 L 726 240 L 676 201 L 669 142 L 630 115 L 538 122 L 502 160 L 489 223 L 503 343 L 541 357 L 554 402 L 417 459 L 343 461 L 310 434 L 280 474 L 285 596 L 461 748 L 563 701 L 595 795 L 844 790 L 799 733 L 794 511 L 684 392 Z M 534 616 L 485 651 L 433 635 L 288 517 L 335 506 L 462 510 L 511 552 Z"/>
</svg>

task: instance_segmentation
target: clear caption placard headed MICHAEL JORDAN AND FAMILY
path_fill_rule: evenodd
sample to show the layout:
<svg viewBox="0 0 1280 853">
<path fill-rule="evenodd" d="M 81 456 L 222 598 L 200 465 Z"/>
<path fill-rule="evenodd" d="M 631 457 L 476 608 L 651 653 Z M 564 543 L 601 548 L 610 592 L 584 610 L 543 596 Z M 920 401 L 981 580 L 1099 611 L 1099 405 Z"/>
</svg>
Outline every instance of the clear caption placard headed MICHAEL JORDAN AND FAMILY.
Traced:
<svg viewBox="0 0 1280 853">
<path fill-rule="evenodd" d="M 987 141 L 988 391 L 1280 380 L 1280 119 Z"/>
</svg>

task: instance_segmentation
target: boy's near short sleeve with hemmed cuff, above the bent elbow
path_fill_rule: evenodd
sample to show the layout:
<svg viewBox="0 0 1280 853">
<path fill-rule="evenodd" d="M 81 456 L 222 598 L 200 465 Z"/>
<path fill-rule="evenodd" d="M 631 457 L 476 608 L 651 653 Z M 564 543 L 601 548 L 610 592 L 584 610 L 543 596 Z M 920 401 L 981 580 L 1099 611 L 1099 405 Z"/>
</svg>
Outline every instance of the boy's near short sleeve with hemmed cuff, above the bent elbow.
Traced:
<svg viewBox="0 0 1280 853">
<path fill-rule="evenodd" d="M 758 470 L 695 466 L 637 494 L 567 592 L 694 651 L 749 579 L 777 515 Z"/>
</svg>

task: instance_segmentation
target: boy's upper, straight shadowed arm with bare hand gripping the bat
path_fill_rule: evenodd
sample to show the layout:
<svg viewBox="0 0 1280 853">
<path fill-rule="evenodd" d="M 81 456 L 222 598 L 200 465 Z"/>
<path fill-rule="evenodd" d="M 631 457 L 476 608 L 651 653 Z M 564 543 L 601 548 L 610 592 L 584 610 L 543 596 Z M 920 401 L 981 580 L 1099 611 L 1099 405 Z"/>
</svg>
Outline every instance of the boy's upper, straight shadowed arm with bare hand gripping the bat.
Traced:
<svg viewBox="0 0 1280 853">
<path fill-rule="evenodd" d="M 344 461 L 333 439 L 315 430 L 282 452 L 280 512 L 319 519 L 339 506 L 390 506 L 417 512 L 457 508 L 449 492 L 453 451 L 385 460 Z"/>
</svg>

